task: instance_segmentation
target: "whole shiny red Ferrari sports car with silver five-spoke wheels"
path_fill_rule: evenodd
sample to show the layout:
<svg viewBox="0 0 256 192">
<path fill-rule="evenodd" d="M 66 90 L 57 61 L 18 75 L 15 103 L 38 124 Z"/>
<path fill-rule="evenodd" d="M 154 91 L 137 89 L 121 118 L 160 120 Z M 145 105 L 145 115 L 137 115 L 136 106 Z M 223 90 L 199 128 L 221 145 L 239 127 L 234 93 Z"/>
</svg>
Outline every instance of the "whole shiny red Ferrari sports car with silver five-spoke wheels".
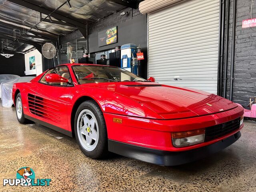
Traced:
<svg viewBox="0 0 256 192">
<path fill-rule="evenodd" d="M 82 152 L 108 151 L 172 166 L 204 158 L 240 138 L 242 107 L 215 94 L 145 80 L 122 68 L 63 64 L 16 83 L 20 123 L 76 137 Z"/>
</svg>

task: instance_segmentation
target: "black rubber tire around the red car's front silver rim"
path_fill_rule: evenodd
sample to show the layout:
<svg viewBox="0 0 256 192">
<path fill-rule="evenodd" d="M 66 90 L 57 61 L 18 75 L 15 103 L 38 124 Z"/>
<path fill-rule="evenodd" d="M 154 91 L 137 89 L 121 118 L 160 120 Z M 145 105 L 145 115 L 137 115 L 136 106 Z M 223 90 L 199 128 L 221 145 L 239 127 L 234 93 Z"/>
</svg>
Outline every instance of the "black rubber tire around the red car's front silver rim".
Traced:
<svg viewBox="0 0 256 192">
<path fill-rule="evenodd" d="M 92 151 L 86 150 L 80 143 L 80 140 L 78 138 L 78 130 L 77 130 L 77 121 L 78 116 L 82 110 L 87 109 L 90 110 L 97 122 L 98 122 L 98 144 L 96 148 Z M 108 135 L 107 135 L 107 128 L 106 128 L 106 122 L 103 116 L 103 113 L 100 109 L 100 106 L 94 101 L 94 100 L 87 100 L 80 104 L 78 109 L 76 110 L 76 116 L 74 120 L 74 131 L 76 136 L 76 142 L 78 143 L 79 148 L 81 151 L 88 157 L 92 159 L 102 159 L 105 158 L 108 155 Z"/>
</svg>

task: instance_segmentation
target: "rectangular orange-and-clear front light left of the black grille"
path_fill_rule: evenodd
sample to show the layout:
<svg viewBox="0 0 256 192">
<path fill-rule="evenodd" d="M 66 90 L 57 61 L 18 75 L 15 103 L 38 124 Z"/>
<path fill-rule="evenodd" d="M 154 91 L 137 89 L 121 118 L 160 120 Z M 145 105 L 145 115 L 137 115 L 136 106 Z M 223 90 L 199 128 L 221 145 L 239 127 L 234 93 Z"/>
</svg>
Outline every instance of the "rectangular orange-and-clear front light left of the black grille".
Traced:
<svg viewBox="0 0 256 192">
<path fill-rule="evenodd" d="M 173 132 L 172 144 L 174 147 L 184 147 L 204 142 L 205 129 L 187 132 Z"/>
</svg>

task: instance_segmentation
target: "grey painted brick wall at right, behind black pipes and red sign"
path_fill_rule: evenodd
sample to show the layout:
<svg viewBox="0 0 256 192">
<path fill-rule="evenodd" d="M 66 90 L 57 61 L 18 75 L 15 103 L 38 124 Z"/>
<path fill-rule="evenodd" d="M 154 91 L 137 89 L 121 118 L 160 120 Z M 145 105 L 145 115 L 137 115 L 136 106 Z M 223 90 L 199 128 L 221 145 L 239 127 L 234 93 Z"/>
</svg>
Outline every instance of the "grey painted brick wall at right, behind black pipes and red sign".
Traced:
<svg viewBox="0 0 256 192">
<path fill-rule="evenodd" d="M 237 0 L 234 52 L 233 102 L 247 108 L 249 98 L 256 96 L 256 27 L 242 28 L 242 20 L 250 18 L 252 0 Z M 256 18 L 256 3 L 252 7 Z M 230 58 L 232 44 L 233 1 L 230 1 L 227 98 L 229 96 Z"/>
</svg>

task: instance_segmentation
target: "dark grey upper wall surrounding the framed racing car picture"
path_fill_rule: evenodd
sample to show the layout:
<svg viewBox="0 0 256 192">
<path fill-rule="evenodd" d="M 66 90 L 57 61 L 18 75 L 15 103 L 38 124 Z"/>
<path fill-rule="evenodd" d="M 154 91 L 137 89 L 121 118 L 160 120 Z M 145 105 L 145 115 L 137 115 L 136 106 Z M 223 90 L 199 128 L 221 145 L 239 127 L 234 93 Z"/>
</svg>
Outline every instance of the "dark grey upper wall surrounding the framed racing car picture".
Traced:
<svg viewBox="0 0 256 192">
<path fill-rule="evenodd" d="M 121 16 L 120 13 L 127 11 L 129 14 Z M 118 41 L 106 46 L 98 46 L 98 32 L 117 26 Z M 147 17 L 138 9 L 125 8 L 106 18 L 102 18 L 89 25 L 88 36 L 89 52 L 91 54 L 113 49 L 115 46 L 134 43 L 140 45 L 145 59 L 141 61 L 139 75 L 147 77 Z"/>
</svg>

